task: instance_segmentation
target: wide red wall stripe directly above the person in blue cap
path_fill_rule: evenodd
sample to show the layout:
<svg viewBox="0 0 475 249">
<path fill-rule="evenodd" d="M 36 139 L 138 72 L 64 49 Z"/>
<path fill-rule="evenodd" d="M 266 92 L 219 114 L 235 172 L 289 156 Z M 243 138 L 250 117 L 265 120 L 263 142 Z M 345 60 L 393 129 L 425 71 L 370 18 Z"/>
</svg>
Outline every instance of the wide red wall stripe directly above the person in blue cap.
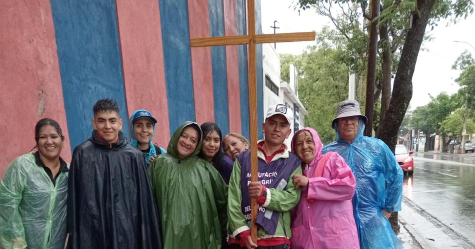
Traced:
<svg viewBox="0 0 475 249">
<path fill-rule="evenodd" d="M 170 132 L 158 1 L 116 4 L 127 111 L 149 110 L 158 121 L 153 142 L 166 149 Z M 129 125 L 129 117 L 122 118 Z"/>
</svg>

